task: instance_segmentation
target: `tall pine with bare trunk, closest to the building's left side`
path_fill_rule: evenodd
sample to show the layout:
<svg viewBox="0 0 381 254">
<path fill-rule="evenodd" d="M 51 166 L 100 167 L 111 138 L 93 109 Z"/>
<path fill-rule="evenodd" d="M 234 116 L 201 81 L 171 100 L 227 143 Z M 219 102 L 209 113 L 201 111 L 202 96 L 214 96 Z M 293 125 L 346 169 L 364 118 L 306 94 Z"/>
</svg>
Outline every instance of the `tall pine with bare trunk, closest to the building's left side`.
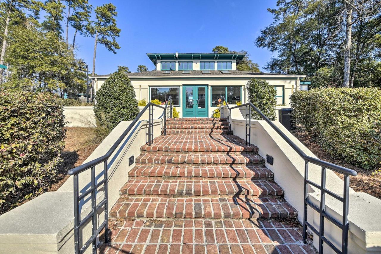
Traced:
<svg viewBox="0 0 381 254">
<path fill-rule="evenodd" d="M 95 9 L 95 21 L 90 29 L 91 34 L 95 38 L 92 75 L 95 75 L 96 46 L 98 43 L 101 43 L 114 54 L 120 48 L 115 40 L 116 37 L 119 37 L 121 31 L 117 27 L 115 19 L 117 15 L 116 7 L 112 3 L 106 3 Z M 91 81 L 91 85 L 94 85 L 94 80 Z"/>
</svg>

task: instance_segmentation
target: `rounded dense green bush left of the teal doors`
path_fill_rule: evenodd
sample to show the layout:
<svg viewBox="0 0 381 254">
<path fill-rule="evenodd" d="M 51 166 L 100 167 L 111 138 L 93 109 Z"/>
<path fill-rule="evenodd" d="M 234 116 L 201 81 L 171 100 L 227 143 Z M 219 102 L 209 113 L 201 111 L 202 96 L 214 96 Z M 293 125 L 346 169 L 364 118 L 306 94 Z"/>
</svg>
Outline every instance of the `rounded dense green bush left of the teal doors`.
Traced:
<svg viewBox="0 0 381 254">
<path fill-rule="evenodd" d="M 135 96 L 134 88 L 125 72 L 111 74 L 96 93 L 94 113 L 99 124 L 112 130 L 122 121 L 133 120 L 139 114 Z"/>
</svg>

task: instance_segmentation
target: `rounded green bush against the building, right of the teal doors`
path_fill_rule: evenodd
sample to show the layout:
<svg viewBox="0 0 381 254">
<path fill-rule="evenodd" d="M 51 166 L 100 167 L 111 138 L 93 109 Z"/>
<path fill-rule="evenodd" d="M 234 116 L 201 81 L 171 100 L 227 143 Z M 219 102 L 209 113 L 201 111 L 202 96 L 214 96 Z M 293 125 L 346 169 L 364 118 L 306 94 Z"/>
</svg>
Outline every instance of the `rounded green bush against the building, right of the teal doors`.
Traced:
<svg viewBox="0 0 381 254">
<path fill-rule="evenodd" d="M 246 85 L 248 100 L 254 104 L 270 120 L 275 120 L 275 99 L 277 91 L 264 79 L 250 79 Z M 253 110 L 254 111 L 254 110 Z M 251 113 L 253 119 L 262 119 L 255 111 Z"/>
</svg>

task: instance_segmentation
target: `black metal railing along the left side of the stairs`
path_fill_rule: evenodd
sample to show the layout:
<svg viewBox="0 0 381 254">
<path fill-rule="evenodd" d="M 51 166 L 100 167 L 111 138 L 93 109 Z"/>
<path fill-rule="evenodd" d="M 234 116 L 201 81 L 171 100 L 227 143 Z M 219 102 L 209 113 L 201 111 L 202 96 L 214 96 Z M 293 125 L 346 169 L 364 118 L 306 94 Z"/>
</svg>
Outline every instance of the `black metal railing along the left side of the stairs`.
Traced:
<svg viewBox="0 0 381 254">
<path fill-rule="evenodd" d="M 169 114 L 170 117 L 172 117 L 172 97 L 169 96 L 168 101 L 166 102 L 165 106 L 157 105 L 154 103 L 147 103 L 147 105 L 144 107 L 144 109 L 138 114 L 138 116 L 135 117 L 135 119 L 131 122 L 130 125 L 126 128 L 126 130 L 120 135 L 120 137 L 115 141 L 114 145 L 111 146 L 109 151 L 107 151 L 106 154 L 103 156 L 93 159 L 92 161 L 86 162 L 85 164 L 82 164 L 81 166 L 75 167 L 74 169 L 69 170 L 68 174 L 73 175 L 73 180 L 74 180 L 74 250 L 75 254 L 81 254 L 86 251 L 86 249 L 90 246 L 92 243 L 93 245 L 93 253 L 97 253 L 97 236 L 101 233 L 101 231 L 104 229 L 104 241 L 107 243 L 107 231 L 108 231 L 108 209 L 107 209 L 107 173 L 108 173 L 108 164 L 107 160 L 110 158 L 112 153 L 116 150 L 116 148 L 120 145 L 120 143 L 123 141 L 123 139 L 126 137 L 126 135 L 132 130 L 134 125 L 139 121 L 141 116 L 144 114 L 144 112 L 149 109 L 149 119 L 148 119 L 148 145 L 153 144 L 153 138 L 154 138 L 154 107 L 161 108 L 164 110 L 163 114 L 159 117 L 163 117 L 164 121 L 164 133 L 165 135 L 165 130 L 166 130 L 166 116 L 167 116 L 167 111 L 168 111 L 168 105 L 169 106 Z M 96 177 L 95 177 L 95 166 L 98 164 L 103 163 L 103 179 L 97 183 Z M 82 194 L 79 194 L 79 186 L 78 186 L 78 175 L 88 169 L 91 169 L 91 187 L 90 189 L 86 190 Z M 97 195 L 97 190 L 99 190 L 100 187 L 103 185 L 103 190 L 104 190 L 104 198 L 102 201 L 97 204 L 96 202 L 96 195 Z M 91 194 L 91 211 L 86 217 L 81 219 L 81 207 L 80 203 L 82 200 L 84 200 L 88 195 Z M 85 201 L 83 201 L 85 203 Z M 102 207 L 104 209 L 104 222 L 97 227 L 97 215 L 98 212 L 102 210 Z M 85 244 L 82 244 L 82 234 L 80 233 L 80 228 L 88 222 L 88 220 L 91 219 L 91 227 L 92 227 L 92 234 L 91 237 L 86 241 Z"/>
</svg>

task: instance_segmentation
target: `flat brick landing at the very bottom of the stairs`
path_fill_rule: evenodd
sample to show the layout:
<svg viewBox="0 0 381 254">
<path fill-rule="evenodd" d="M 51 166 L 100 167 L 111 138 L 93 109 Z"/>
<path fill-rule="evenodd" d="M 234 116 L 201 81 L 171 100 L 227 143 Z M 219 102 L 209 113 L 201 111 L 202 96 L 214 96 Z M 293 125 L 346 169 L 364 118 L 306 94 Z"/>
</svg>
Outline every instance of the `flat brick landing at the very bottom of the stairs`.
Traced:
<svg viewBox="0 0 381 254">
<path fill-rule="evenodd" d="M 111 219 L 100 253 L 317 253 L 292 220 Z M 309 238 L 307 238 L 309 240 Z M 311 241 L 309 241 L 311 242 Z"/>
</svg>

